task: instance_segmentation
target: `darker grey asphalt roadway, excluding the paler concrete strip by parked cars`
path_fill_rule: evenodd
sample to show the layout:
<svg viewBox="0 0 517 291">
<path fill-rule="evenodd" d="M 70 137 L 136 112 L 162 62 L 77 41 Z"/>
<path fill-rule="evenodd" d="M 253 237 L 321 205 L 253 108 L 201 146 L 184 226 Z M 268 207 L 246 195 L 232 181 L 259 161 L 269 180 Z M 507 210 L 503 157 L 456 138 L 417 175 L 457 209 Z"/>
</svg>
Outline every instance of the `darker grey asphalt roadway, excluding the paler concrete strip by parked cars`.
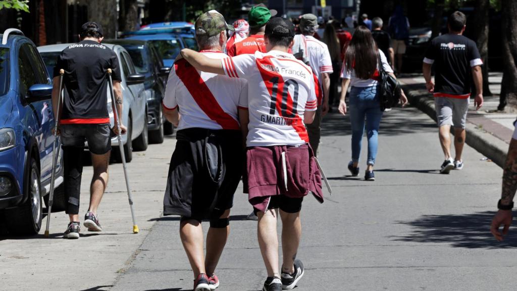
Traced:
<svg viewBox="0 0 517 291">
<path fill-rule="evenodd" d="M 307 271 L 296 290 L 512 288 L 517 231 L 502 244 L 488 232 L 499 195 L 499 167 L 466 147 L 462 171 L 438 174 L 443 157 L 434 123 L 416 109 L 397 109 L 382 123 L 377 181 L 366 182 L 346 176 L 348 119 L 332 114 L 324 127 L 320 156 L 334 195 L 323 205 L 311 197 L 304 202 L 298 257 Z M 266 272 L 256 223 L 244 220 L 249 211 L 239 189 L 217 269 L 220 290 L 262 288 Z M 151 219 L 158 221 L 110 290 L 192 287 L 178 220 Z"/>
</svg>

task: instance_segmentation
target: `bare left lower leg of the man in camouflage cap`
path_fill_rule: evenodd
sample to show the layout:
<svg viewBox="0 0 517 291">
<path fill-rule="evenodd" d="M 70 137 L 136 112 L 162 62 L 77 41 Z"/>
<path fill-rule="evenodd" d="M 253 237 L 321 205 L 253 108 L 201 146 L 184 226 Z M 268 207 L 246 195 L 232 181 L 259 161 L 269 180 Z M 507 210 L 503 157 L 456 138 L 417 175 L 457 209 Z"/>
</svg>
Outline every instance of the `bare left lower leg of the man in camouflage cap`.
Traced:
<svg viewBox="0 0 517 291">
<path fill-rule="evenodd" d="M 203 228 L 196 220 L 182 221 L 179 224 L 179 237 L 189 258 L 190 267 L 194 272 L 194 279 L 205 271 L 205 257 L 203 254 Z"/>
</svg>

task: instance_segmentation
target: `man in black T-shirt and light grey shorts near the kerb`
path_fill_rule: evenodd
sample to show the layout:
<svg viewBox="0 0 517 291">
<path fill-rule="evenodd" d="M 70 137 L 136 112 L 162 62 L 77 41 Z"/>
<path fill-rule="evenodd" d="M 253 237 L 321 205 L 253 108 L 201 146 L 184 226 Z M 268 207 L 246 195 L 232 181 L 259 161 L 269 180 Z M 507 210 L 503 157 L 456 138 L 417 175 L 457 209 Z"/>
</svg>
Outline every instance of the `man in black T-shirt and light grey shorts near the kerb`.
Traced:
<svg viewBox="0 0 517 291">
<path fill-rule="evenodd" d="M 481 57 L 476 43 L 462 34 L 465 31 L 466 17 L 456 11 L 449 17 L 449 33 L 436 37 L 423 60 L 425 86 L 433 93 L 439 127 L 440 144 L 445 161 L 440 173 L 463 168 L 461 154 L 465 143 L 465 122 L 472 83 L 476 86 L 474 106 L 476 110 L 483 105 L 483 77 Z M 431 79 L 431 66 L 435 65 L 435 83 Z M 454 126 L 455 157 L 450 153 L 450 127 Z"/>
</svg>

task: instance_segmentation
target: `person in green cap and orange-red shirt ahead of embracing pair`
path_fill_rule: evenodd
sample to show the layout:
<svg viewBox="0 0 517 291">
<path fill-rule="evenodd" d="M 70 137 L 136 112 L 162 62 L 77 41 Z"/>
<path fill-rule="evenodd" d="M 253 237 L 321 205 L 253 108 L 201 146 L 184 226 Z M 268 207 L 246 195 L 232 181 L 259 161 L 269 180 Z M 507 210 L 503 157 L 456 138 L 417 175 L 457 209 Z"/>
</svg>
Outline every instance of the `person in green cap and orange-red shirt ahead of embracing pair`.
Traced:
<svg viewBox="0 0 517 291">
<path fill-rule="evenodd" d="M 277 13 L 277 10 L 269 10 L 264 4 L 258 4 L 251 7 L 248 12 L 250 36 L 234 43 L 234 45 L 228 50 L 228 55 L 236 56 L 246 53 L 253 54 L 256 51 L 266 52 L 266 46 L 264 45 L 264 29 L 269 19 L 274 17 Z"/>
</svg>

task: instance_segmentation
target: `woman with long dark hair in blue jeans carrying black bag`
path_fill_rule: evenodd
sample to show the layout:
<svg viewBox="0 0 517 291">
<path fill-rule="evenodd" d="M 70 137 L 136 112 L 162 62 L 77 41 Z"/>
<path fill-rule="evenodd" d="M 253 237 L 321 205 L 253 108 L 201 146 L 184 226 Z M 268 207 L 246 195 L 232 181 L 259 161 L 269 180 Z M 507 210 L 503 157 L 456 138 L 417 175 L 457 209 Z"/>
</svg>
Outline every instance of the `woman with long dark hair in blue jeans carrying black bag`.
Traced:
<svg viewBox="0 0 517 291">
<path fill-rule="evenodd" d="M 379 62 L 379 60 L 381 62 Z M 377 48 L 372 33 L 366 26 L 359 26 L 345 52 L 345 60 L 341 71 L 341 99 L 339 112 L 345 115 L 348 111 L 352 126 L 352 161 L 348 170 L 353 177 L 359 175 L 359 156 L 361 155 L 364 120 L 368 137 L 368 160 L 364 180 L 375 180 L 373 166 L 377 157 L 378 131 L 383 117 L 379 100 L 379 69 L 381 66 L 393 78 L 391 69 L 384 53 Z M 351 86 L 349 108 L 345 103 L 346 91 Z M 401 102 L 404 106 L 407 98 L 402 91 Z"/>
</svg>

